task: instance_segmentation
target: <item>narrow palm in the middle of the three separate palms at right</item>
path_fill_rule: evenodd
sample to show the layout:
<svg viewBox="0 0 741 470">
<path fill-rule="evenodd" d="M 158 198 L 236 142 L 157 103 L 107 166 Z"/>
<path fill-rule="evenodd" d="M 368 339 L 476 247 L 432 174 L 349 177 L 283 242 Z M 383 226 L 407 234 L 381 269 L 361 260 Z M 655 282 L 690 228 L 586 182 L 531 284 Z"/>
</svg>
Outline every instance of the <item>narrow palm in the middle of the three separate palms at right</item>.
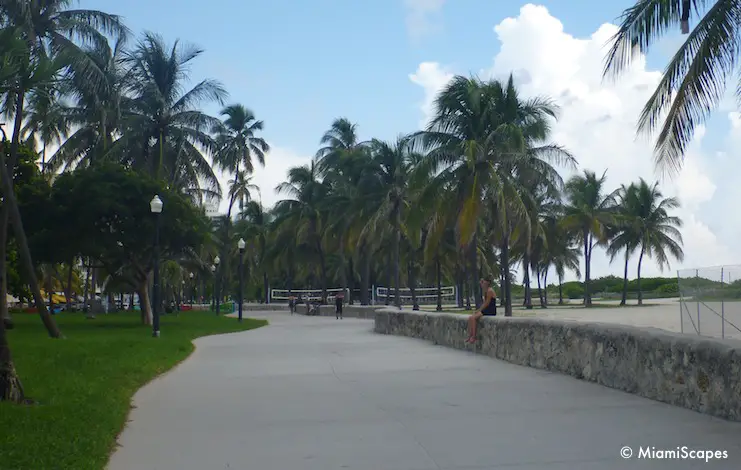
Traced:
<svg viewBox="0 0 741 470">
<path fill-rule="evenodd" d="M 623 293 L 620 299 L 620 305 L 625 305 L 628 300 L 628 261 L 631 254 L 640 244 L 640 233 L 638 233 L 637 217 L 641 212 L 640 207 L 636 207 L 638 198 L 635 192 L 638 190 L 634 183 L 630 186 L 621 186 L 618 193 L 617 217 L 615 224 L 608 227 L 608 239 L 610 240 L 607 248 L 607 254 L 610 255 L 610 262 L 621 251 L 625 254 L 625 268 L 623 270 Z"/>
</svg>

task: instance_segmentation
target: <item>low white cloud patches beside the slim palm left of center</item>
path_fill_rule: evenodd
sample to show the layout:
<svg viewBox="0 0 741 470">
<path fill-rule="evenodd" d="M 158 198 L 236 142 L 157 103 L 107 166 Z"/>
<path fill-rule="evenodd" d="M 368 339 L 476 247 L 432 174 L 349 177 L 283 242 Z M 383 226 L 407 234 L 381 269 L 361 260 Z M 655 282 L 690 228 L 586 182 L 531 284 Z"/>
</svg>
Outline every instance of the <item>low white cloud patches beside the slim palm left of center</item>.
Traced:
<svg viewBox="0 0 741 470">
<path fill-rule="evenodd" d="M 262 167 L 258 162 L 253 162 L 255 173 L 252 175 L 252 183 L 260 188 L 259 194 L 253 194 L 253 199 L 262 199 L 263 205 L 268 208 L 272 207 L 277 201 L 284 196 L 275 191 L 275 187 L 286 181 L 288 170 L 295 166 L 306 165 L 311 161 L 311 156 L 304 156 L 294 151 L 282 147 L 271 145 L 270 152 L 265 155 L 265 166 Z M 234 177 L 224 172 L 217 171 L 219 183 L 224 198 L 219 204 L 219 212 L 225 214 L 229 206 L 229 198 L 226 196 L 229 190 L 229 180 Z"/>
</svg>

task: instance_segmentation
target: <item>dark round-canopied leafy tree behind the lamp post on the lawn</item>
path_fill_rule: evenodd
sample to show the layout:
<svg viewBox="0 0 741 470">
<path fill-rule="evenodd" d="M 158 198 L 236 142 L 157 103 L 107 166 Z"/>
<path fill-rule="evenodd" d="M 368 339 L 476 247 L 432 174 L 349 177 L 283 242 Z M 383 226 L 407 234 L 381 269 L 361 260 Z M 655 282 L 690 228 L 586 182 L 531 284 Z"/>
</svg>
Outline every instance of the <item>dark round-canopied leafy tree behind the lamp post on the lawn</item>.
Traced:
<svg viewBox="0 0 741 470">
<path fill-rule="evenodd" d="M 105 163 L 61 175 L 52 190 L 60 232 L 82 256 L 99 260 L 108 273 L 129 271 L 150 320 L 147 280 L 153 265 L 155 217 L 149 201 L 164 202 L 160 214 L 162 260 L 190 256 L 206 238 L 208 221 L 183 195 L 163 182 L 117 164 Z M 76 242 L 73 242 L 73 239 Z"/>
</svg>

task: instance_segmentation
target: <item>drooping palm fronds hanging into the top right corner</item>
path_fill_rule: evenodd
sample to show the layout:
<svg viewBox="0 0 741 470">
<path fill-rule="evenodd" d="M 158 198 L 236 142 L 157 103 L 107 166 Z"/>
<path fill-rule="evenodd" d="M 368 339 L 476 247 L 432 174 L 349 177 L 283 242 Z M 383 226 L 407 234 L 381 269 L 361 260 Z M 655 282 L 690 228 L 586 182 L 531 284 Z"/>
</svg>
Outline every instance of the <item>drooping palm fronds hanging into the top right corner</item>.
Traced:
<svg viewBox="0 0 741 470">
<path fill-rule="evenodd" d="M 655 146 L 659 169 L 676 173 L 698 124 L 723 97 L 741 51 L 737 0 L 637 0 L 625 10 L 605 63 L 618 75 L 662 36 L 681 26 L 689 34 L 664 69 L 638 122 L 639 132 L 661 127 Z M 689 31 L 691 16 L 699 21 Z M 663 123 L 662 123 L 663 121 Z"/>
</svg>

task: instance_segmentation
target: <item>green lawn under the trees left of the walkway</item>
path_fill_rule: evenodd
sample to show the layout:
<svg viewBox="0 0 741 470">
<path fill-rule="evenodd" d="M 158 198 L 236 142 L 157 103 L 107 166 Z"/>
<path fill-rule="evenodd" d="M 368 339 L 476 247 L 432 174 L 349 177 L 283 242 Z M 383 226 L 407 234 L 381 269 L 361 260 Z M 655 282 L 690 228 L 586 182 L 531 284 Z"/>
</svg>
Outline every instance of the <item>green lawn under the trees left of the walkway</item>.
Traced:
<svg viewBox="0 0 741 470">
<path fill-rule="evenodd" d="M 103 469 L 132 395 L 193 351 L 200 336 L 257 328 L 263 320 L 181 312 L 162 317 L 151 337 L 139 313 L 55 318 L 66 339 L 46 336 L 36 315 L 15 314 L 9 331 L 26 395 L 36 405 L 0 403 L 0 468 Z"/>
</svg>

